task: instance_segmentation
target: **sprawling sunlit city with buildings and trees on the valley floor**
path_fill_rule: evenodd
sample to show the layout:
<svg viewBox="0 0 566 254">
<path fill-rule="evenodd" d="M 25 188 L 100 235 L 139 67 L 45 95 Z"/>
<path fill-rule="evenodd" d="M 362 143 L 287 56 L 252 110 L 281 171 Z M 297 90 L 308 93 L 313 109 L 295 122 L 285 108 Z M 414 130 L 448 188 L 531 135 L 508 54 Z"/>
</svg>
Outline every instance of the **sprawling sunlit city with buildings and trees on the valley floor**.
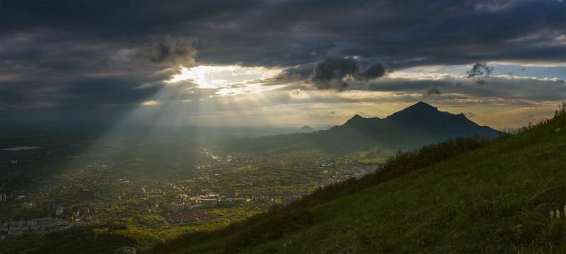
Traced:
<svg viewBox="0 0 566 254">
<path fill-rule="evenodd" d="M 11 189 L 2 186 L 2 241 L 109 224 L 173 238 L 197 227 L 213 229 L 241 221 L 325 185 L 362 178 L 381 165 L 359 156 L 249 156 L 187 145 L 186 154 L 195 162 L 191 164 L 162 154 L 135 154 L 135 146 L 107 147 L 56 163 L 50 157 L 57 155 L 48 148 L 3 149 L 6 163 L 1 167 L 6 175 L 18 179 L 23 172 L 34 172 L 35 177 L 28 183 L 13 182 Z M 175 166 L 162 170 L 161 177 L 140 173 L 167 163 Z M 163 176 L 167 173 L 173 177 Z"/>
</svg>

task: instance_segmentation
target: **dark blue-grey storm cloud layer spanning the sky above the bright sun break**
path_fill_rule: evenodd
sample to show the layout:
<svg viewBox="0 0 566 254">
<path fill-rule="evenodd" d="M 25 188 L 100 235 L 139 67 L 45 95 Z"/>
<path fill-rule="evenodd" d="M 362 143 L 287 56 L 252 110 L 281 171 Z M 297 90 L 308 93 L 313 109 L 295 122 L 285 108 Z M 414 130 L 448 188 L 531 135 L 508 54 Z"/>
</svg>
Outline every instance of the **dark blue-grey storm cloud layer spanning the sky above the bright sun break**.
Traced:
<svg viewBox="0 0 566 254">
<path fill-rule="evenodd" d="M 427 64 L 566 62 L 564 13 L 550 0 L 0 1 L 0 110 L 133 105 L 195 57 L 337 89 Z"/>
</svg>

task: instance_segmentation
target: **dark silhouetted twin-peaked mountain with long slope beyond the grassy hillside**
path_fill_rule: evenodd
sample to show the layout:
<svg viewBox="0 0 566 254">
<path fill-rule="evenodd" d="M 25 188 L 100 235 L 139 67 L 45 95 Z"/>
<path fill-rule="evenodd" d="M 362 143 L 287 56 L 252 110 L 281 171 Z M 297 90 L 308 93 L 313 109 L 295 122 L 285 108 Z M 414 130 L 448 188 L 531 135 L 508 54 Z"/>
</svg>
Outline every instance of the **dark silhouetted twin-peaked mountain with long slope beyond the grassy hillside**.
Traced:
<svg viewBox="0 0 566 254">
<path fill-rule="evenodd" d="M 354 115 L 344 125 L 325 131 L 241 139 L 231 142 L 226 149 L 253 153 L 304 150 L 343 153 L 378 147 L 388 154 L 456 137 L 493 138 L 500 134 L 495 129 L 475 124 L 463 114 L 441 112 L 419 102 L 386 118 Z"/>
</svg>

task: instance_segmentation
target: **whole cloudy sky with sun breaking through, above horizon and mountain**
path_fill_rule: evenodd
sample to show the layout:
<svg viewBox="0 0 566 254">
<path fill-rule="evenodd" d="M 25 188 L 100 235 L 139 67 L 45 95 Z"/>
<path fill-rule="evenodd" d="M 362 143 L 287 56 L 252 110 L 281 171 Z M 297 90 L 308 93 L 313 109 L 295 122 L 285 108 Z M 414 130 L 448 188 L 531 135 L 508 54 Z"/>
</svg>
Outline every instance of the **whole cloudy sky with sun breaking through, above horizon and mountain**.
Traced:
<svg viewBox="0 0 566 254">
<path fill-rule="evenodd" d="M 0 125 L 340 125 L 566 98 L 565 1 L 0 1 Z"/>
</svg>

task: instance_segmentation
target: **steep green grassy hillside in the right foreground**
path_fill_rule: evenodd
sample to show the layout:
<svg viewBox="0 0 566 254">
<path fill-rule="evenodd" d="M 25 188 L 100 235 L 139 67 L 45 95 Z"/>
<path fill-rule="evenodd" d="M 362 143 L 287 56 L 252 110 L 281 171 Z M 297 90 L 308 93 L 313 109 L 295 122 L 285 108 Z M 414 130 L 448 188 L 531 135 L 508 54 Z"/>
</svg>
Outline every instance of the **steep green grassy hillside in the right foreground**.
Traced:
<svg viewBox="0 0 566 254">
<path fill-rule="evenodd" d="M 566 204 L 565 149 L 562 107 L 520 134 L 400 154 L 375 175 L 154 252 L 563 252 L 566 219 L 549 212 Z"/>
</svg>

